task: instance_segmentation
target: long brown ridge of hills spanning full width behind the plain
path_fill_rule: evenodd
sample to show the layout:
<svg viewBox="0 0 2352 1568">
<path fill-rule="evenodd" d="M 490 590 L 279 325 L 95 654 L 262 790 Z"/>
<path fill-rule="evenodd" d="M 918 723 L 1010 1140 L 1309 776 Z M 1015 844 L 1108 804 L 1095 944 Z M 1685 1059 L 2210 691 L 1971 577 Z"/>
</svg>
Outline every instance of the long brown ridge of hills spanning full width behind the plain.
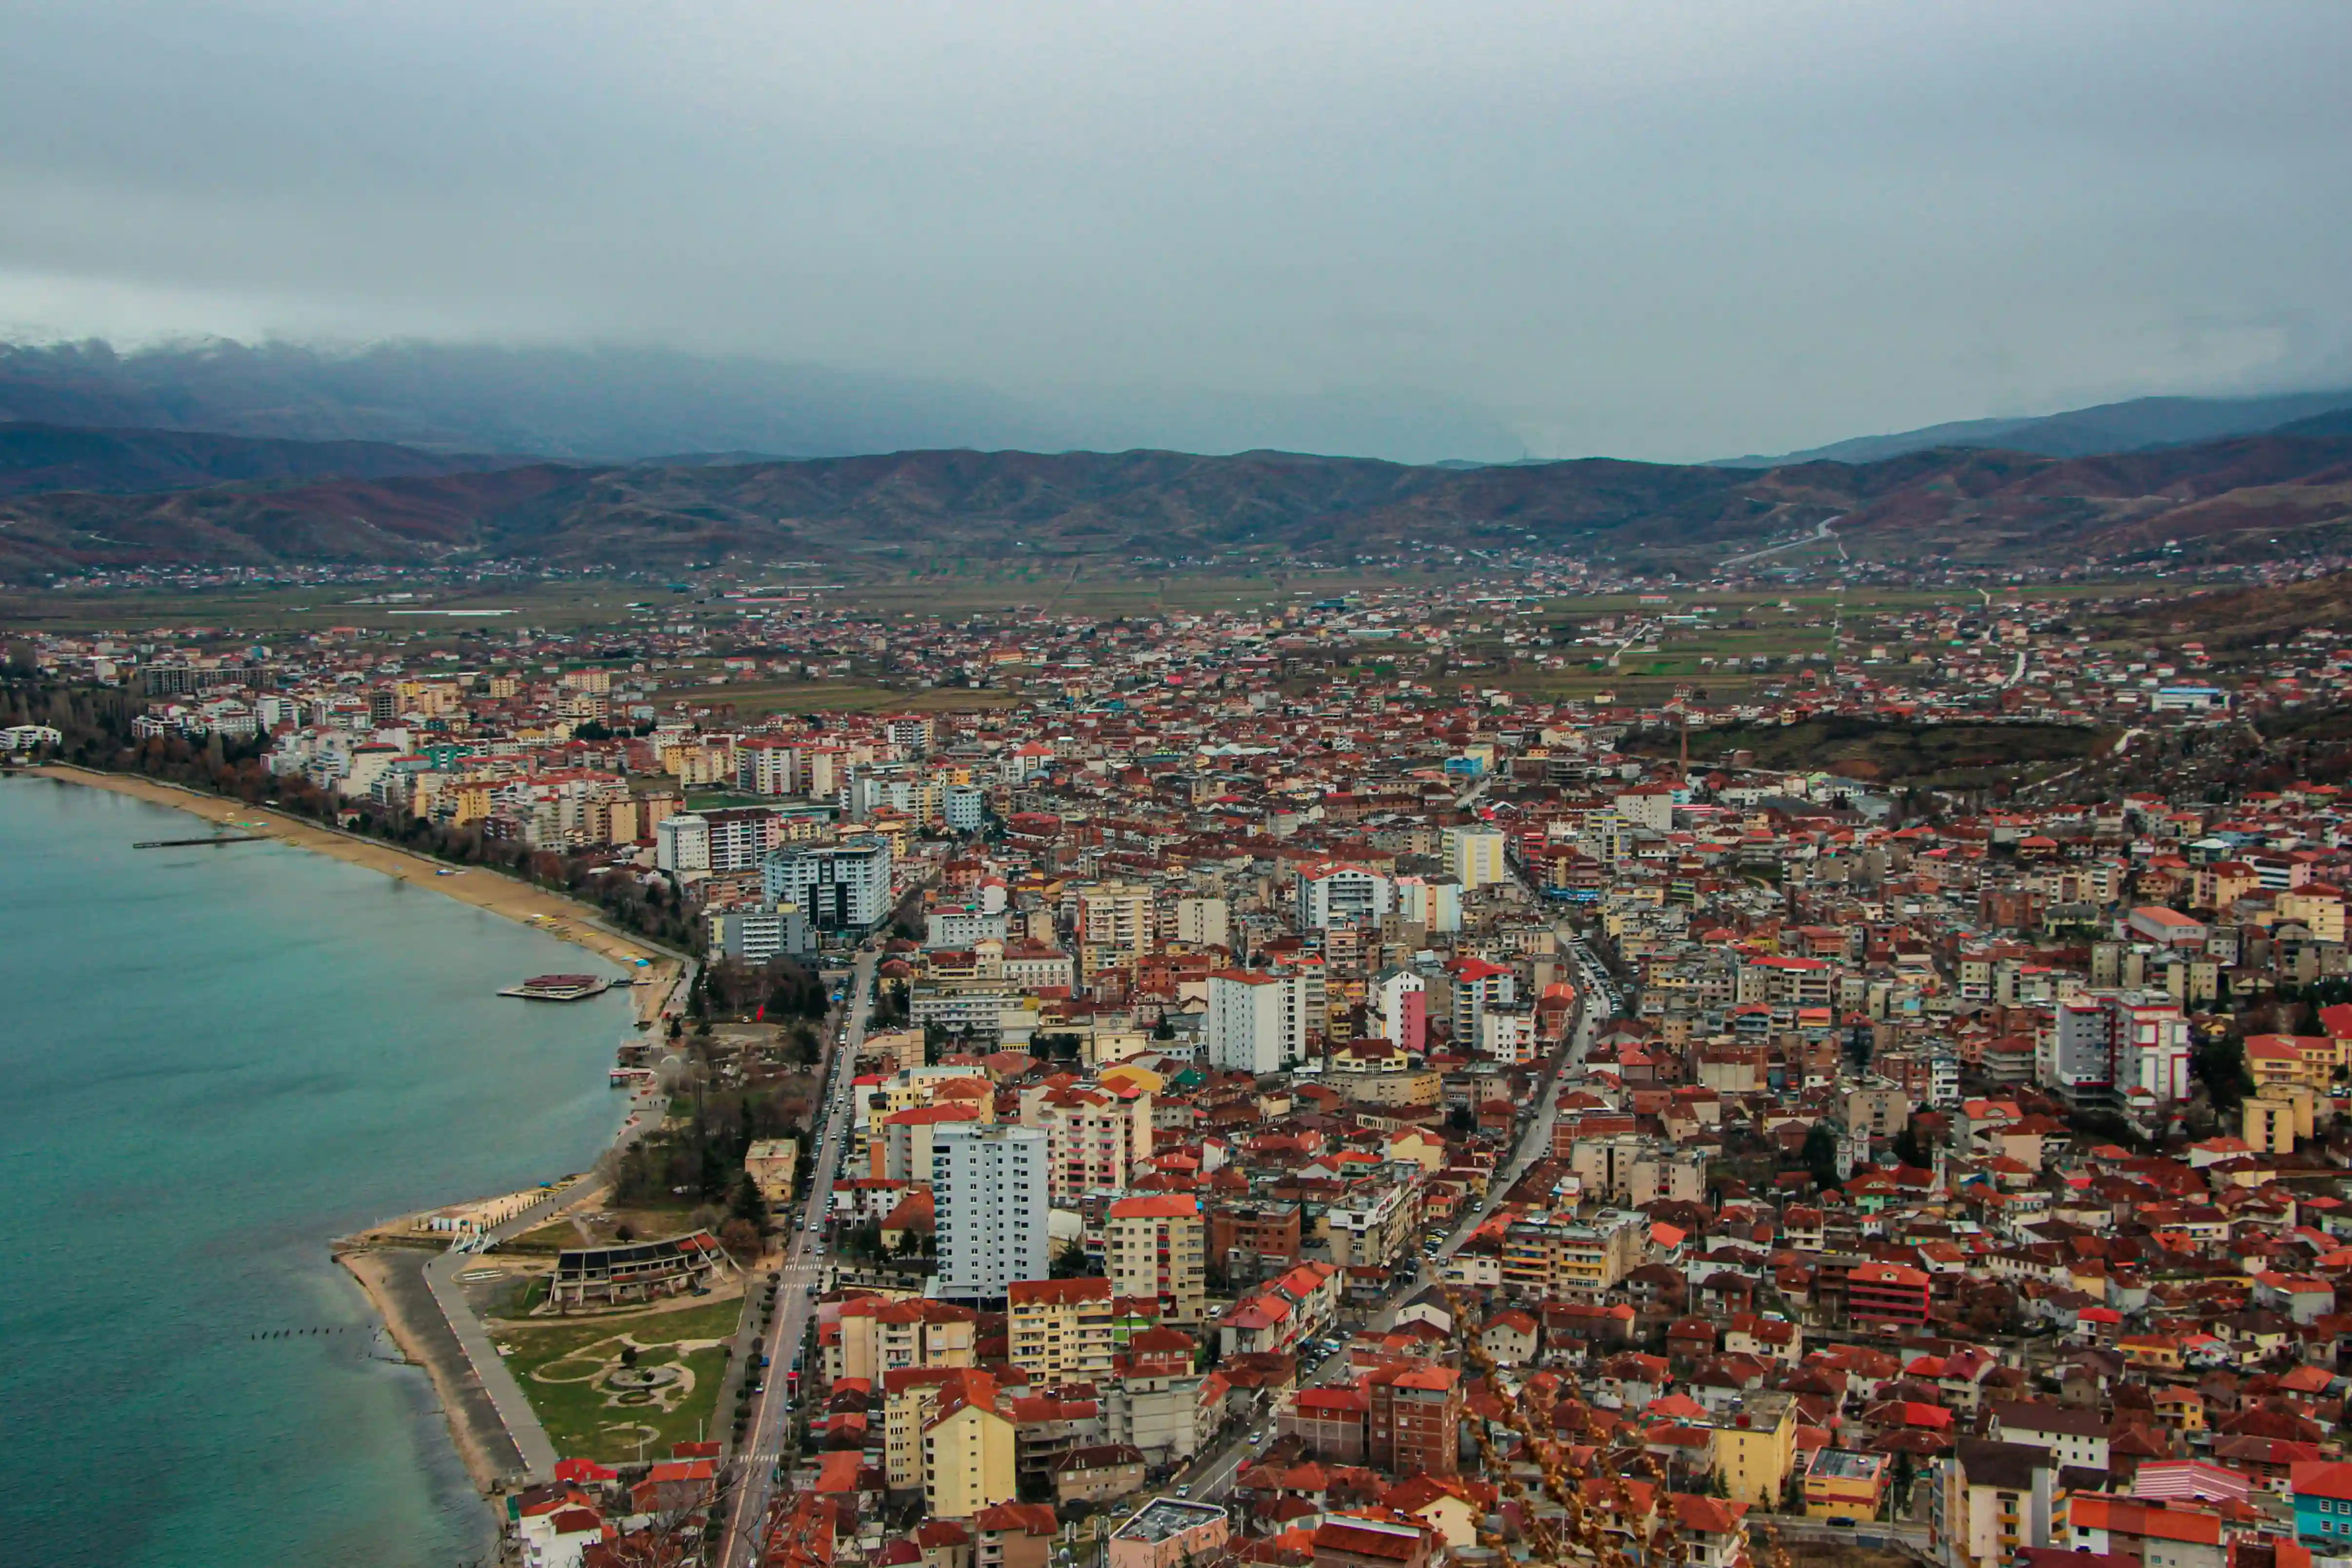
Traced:
<svg viewBox="0 0 2352 1568">
<path fill-rule="evenodd" d="M 0 498 L 0 574 L 132 564 L 433 562 L 668 569 L 823 559 L 1348 559 L 1397 548 L 1613 552 L 1710 569 L 1837 520 L 1856 557 L 2253 559 L 2352 548 L 2352 437 L 2119 456 L 1940 449 L 1773 470 L 1437 468 L 1284 451 L 896 451 L 706 465 L 529 463 L 289 487 Z M 1771 562 L 1757 571 L 1769 571 Z"/>
</svg>

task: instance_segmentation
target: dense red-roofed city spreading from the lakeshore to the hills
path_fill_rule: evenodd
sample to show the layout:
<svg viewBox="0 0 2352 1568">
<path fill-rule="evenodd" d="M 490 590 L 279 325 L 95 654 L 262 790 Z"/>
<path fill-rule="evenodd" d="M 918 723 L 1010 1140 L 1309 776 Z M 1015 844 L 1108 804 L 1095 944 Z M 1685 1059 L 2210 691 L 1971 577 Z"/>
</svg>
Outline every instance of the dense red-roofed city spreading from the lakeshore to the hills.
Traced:
<svg viewBox="0 0 2352 1568">
<path fill-rule="evenodd" d="M 517 1563 L 2343 1554 L 2352 651 L 1849 585 L 40 635 L 5 738 L 675 959 L 602 1180 L 395 1237 Z"/>
</svg>

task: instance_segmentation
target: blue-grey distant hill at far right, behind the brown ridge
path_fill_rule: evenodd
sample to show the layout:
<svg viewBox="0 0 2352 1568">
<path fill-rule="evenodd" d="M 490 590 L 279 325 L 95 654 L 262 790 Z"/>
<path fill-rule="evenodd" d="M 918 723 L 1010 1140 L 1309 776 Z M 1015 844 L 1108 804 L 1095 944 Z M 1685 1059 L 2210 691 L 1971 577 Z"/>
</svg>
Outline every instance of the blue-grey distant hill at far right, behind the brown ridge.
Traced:
<svg viewBox="0 0 2352 1568">
<path fill-rule="evenodd" d="M 1976 447 L 2034 451 L 2053 458 L 2098 456 L 2107 451 L 2145 451 L 2147 447 L 2183 447 L 2230 435 L 2265 430 L 2303 435 L 2345 435 L 2333 430 L 2298 430 L 2296 421 L 2352 409 L 2352 388 L 2336 393 L 2291 393 L 2284 397 L 2133 397 L 2096 409 L 2070 409 L 2034 418 L 1964 418 L 1947 425 L 1924 425 L 1898 435 L 1858 435 L 1811 451 L 1780 456 L 1717 458 L 1719 468 L 1785 468 L 1790 463 L 1884 463 L 1886 458 L 1938 447 Z"/>
</svg>

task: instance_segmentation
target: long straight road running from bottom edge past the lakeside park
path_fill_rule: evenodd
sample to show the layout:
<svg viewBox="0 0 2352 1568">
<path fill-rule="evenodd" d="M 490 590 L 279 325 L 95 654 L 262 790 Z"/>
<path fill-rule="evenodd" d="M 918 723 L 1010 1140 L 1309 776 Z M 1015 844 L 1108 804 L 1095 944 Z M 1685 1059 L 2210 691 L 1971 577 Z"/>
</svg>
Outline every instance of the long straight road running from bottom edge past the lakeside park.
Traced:
<svg viewBox="0 0 2352 1568">
<path fill-rule="evenodd" d="M 776 1495 L 776 1462 L 786 1453 L 786 1434 L 793 1427 L 793 1378 L 779 1375 L 800 1356 L 800 1345 L 809 1331 L 816 1305 L 816 1286 L 826 1274 L 826 1215 L 833 1213 L 833 1171 L 840 1166 L 842 1147 L 849 1143 L 851 1093 L 856 1079 L 858 1046 L 866 1044 L 866 1016 L 875 999 L 875 954 L 858 952 L 849 985 L 842 992 L 842 1039 L 830 1046 L 823 1110 L 816 1138 L 816 1161 L 809 1166 L 809 1192 L 802 1197 L 795 1218 L 800 1229 L 783 1234 L 783 1265 L 776 1269 L 776 1321 L 767 1331 L 767 1354 L 774 1361 L 753 1403 L 750 1436 L 734 1460 L 734 1500 L 727 1507 L 727 1528 L 720 1537 L 720 1568 L 743 1568 L 760 1559 L 760 1530 L 767 1521 L 769 1500 Z M 746 1312 L 757 1307 L 757 1284 L 746 1298 Z M 816 1385 L 816 1368 L 804 1366 L 802 1387 Z"/>
</svg>

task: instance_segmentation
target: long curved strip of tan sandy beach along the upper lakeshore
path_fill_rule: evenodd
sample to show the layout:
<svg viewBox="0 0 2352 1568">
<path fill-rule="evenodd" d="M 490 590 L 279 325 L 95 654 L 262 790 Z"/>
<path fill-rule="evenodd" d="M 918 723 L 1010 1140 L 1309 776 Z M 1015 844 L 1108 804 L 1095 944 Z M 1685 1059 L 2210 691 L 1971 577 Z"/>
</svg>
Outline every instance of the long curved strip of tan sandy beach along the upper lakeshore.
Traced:
<svg viewBox="0 0 2352 1568">
<path fill-rule="evenodd" d="M 336 832 L 334 827 L 320 827 L 318 823 L 306 823 L 296 816 L 285 816 L 282 811 L 268 811 L 266 806 L 247 806 L 245 802 L 221 799 L 219 795 L 202 795 L 198 790 L 158 783 L 153 778 L 94 773 L 89 769 L 66 764 L 26 769 L 26 773 L 54 778 L 59 783 L 87 785 L 92 790 L 129 795 L 155 806 L 172 806 L 174 811 L 200 816 L 216 825 L 238 825 L 247 832 L 261 832 L 299 849 L 348 860 L 350 865 L 365 865 L 367 870 L 383 872 L 395 882 L 409 882 L 430 889 L 442 898 L 470 903 L 477 910 L 489 910 L 492 914 L 503 914 L 506 919 L 536 926 L 548 936 L 557 936 L 609 959 L 633 978 L 642 976 L 644 983 L 633 987 L 640 1023 L 661 1018 L 684 971 L 675 957 L 602 926 L 600 910 L 579 903 L 576 898 L 564 898 L 562 893 L 532 886 L 529 882 L 517 882 L 503 872 L 468 865 L 456 870 L 456 875 L 445 877 L 442 872 L 452 867 L 407 849 Z M 647 961 L 644 969 L 637 966 L 637 959 Z"/>
</svg>

